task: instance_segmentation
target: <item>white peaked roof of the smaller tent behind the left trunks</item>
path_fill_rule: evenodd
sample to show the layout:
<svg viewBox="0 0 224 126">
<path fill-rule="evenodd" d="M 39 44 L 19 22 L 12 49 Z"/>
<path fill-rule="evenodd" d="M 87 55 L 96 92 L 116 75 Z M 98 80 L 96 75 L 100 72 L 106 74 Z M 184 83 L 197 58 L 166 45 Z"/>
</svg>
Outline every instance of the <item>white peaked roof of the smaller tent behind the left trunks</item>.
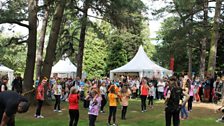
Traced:
<svg viewBox="0 0 224 126">
<path fill-rule="evenodd" d="M 67 57 L 65 59 L 59 60 L 51 70 L 51 73 L 72 73 L 76 72 L 76 66 Z"/>
</svg>

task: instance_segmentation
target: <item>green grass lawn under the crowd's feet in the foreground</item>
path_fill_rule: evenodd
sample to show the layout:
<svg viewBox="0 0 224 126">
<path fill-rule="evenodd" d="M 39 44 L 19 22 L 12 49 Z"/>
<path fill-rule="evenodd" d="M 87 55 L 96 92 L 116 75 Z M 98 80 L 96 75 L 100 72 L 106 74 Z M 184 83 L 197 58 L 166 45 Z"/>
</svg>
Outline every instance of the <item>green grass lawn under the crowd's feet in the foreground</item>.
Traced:
<svg viewBox="0 0 224 126">
<path fill-rule="evenodd" d="M 34 118 L 35 106 L 32 106 L 25 114 L 16 114 L 16 126 L 68 126 L 68 104 L 62 103 L 62 113 L 53 112 L 52 106 L 43 106 L 42 115 L 44 119 Z M 181 121 L 181 126 L 224 126 L 223 123 L 216 123 L 215 120 L 221 113 L 215 113 L 212 109 L 214 105 L 204 103 L 193 103 L 193 111 L 189 113 L 189 119 Z M 96 126 L 106 126 L 108 118 L 108 105 L 106 113 L 97 117 Z M 87 109 L 83 109 L 80 102 L 79 126 L 88 126 Z M 121 120 L 121 106 L 117 108 L 117 121 L 119 126 L 165 126 L 164 104 L 156 101 L 153 109 L 147 112 L 140 111 L 140 100 L 130 100 L 127 120 Z"/>
</svg>

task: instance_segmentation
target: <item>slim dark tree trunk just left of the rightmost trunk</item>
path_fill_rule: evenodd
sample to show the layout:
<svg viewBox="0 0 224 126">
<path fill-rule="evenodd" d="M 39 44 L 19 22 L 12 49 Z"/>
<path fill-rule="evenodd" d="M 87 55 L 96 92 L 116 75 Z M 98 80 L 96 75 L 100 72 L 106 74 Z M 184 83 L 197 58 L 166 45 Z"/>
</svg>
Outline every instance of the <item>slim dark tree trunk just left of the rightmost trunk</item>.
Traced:
<svg viewBox="0 0 224 126">
<path fill-rule="evenodd" d="M 203 4 L 204 8 L 204 21 L 203 25 L 205 27 L 205 31 L 208 31 L 208 0 L 206 0 Z M 201 54 L 200 54 L 200 71 L 199 76 L 201 79 L 205 77 L 205 59 L 206 59 L 206 47 L 207 47 L 207 38 L 208 35 L 204 35 L 204 38 L 201 40 Z"/>
</svg>

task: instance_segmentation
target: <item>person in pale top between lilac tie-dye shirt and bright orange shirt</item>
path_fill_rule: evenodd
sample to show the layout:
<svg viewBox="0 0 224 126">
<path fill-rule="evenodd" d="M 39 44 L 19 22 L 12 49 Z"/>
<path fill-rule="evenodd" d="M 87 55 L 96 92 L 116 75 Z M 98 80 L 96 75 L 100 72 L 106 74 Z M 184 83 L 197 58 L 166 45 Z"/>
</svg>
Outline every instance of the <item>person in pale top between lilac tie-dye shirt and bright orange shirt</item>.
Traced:
<svg viewBox="0 0 224 126">
<path fill-rule="evenodd" d="M 107 100 L 106 100 L 107 88 L 106 88 L 105 82 L 102 82 L 100 86 L 100 94 L 102 97 L 100 112 L 105 113 L 104 106 L 107 104 Z"/>
</svg>

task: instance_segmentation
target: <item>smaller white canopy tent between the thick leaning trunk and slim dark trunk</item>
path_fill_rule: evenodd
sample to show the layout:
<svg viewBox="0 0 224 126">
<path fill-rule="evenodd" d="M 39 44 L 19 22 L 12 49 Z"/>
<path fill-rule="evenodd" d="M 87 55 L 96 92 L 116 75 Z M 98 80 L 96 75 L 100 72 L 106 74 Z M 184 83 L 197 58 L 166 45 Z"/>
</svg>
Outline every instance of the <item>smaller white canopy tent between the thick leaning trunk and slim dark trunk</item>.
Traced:
<svg viewBox="0 0 224 126">
<path fill-rule="evenodd" d="M 59 60 L 51 70 L 51 75 L 57 74 L 58 77 L 72 77 L 76 76 L 77 68 L 67 57 L 65 59 Z"/>
</svg>

